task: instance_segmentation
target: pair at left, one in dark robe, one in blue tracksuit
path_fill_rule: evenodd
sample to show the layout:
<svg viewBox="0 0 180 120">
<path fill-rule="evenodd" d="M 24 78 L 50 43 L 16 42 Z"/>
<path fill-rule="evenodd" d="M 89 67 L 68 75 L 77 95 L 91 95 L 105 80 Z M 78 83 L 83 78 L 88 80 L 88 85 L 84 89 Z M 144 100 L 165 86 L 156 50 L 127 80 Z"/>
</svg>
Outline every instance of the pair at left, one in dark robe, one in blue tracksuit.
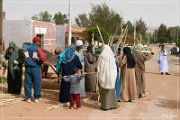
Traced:
<svg viewBox="0 0 180 120">
<path fill-rule="evenodd" d="M 41 64 L 44 63 L 45 55 L 40 48 L 41 39 L 33 38 L 33 44 L 23 51 L 14 42 L 9 43 L 5 53 L 8 60 L 8 93 L 19 95 L 22 88 L 22 67 L 25 66 L 24 95 L 27 102 L 39 102 L 41 100 Z M 32 88 L 34 95 L 32 97 Z"/>
</svg>

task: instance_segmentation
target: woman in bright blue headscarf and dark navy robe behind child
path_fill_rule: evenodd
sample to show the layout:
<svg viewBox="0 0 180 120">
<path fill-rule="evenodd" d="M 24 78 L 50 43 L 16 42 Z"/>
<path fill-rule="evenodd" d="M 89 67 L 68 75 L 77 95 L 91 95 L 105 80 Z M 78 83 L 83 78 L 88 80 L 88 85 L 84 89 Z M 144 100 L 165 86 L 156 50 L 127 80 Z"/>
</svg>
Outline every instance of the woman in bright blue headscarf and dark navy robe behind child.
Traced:
<svg viewBox="0 0 180 120">
<path fill-rule="evenodd" d="M 61 71 L 62 76 L 73 75 L 75 68 L 82 69 L 79 57 L 75 55 L 75 50 L 76 48 L 71 45 L 60 55 L 61 59 L 57 61 L 56 71 Z M 60 84 L 59 101 L 61 103 L 70 102 L 70 82 L 65 82 L 63 78 Z"/>
</svg>

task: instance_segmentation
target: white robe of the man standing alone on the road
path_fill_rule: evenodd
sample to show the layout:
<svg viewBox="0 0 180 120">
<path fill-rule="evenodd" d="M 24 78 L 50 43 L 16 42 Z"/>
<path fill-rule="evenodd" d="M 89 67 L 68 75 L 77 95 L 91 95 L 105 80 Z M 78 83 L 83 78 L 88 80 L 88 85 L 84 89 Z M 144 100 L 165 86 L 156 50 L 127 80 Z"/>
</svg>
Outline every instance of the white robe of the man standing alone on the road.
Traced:
<svg viewBox="0 0 180 120">
<path fill-rule="evenodd" d="M 160 62 L 160 72 L 168 72 L 168 61 L 167 61 L 167 52 L 158 52 L 158 61 Z"/>
</svg>

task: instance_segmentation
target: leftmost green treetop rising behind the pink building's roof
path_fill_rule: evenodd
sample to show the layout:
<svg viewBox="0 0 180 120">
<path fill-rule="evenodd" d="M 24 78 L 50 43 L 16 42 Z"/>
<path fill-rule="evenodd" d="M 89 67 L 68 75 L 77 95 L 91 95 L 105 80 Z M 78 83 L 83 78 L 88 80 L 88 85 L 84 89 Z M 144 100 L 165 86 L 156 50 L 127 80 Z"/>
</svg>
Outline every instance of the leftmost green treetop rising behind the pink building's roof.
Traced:
<svg viewBox="0 0 180 120">
<path fill-rule="evenodd" d="M 52 15 L 48 13 L 48 11 L 40 12 L 38 15 L 34 15 L 31 17 L 33 20 L 44 21 L 44 22 L 51 22 Z"/>
</svg>

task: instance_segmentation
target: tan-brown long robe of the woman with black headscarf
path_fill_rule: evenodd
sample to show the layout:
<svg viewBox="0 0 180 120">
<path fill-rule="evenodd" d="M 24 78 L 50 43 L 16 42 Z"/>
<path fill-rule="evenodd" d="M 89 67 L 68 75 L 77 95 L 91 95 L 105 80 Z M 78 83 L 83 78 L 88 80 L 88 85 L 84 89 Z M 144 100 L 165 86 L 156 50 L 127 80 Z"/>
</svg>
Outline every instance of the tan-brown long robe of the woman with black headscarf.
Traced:
<svg viewBox="0 0 180 120">
<path fill-rule="evenodd" d="M 126 56 L 120 58 L 121 62 L 121 99 L 123 101 L 134 100 L 137 97 L 135 69 L 127 68 Z"/>
</svg>

